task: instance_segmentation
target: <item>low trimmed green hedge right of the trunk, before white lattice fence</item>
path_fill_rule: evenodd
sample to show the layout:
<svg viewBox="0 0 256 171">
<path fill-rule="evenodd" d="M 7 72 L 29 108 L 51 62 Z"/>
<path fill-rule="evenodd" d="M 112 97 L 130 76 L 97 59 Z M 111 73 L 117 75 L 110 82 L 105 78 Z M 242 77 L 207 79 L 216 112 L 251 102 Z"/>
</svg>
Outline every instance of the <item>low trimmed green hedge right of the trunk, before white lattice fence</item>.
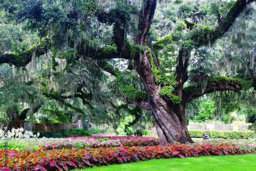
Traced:
<svg viewBox="0 0 256 171">
<path fill-rule="evenodd" d="M 188 130 L 191 138 L 202 138 L 204 130 Z M 249 139 L 253 138 L 253 131 L 206 131 L 211 138 Z"/>
</svg>

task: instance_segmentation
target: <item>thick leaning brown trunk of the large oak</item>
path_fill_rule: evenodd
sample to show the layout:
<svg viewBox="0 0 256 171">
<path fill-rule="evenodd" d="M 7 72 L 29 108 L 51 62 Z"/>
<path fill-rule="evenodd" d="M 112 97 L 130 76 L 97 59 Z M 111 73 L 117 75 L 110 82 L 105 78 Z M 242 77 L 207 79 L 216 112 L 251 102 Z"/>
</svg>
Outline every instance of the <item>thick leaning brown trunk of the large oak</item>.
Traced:
<svg viewBox="0 0 256 171">
<path fill-rule="evenodd" d="M 185 103 L 167 103 L 160 97 L 159 86 L 154 80 L 147 51 L 135 62 L 135 69 L 140 75 L 140 80 L 150 99 L 150 111 L 154 116 L 160 144 L 164 145 L 166 142 L 192 143 L 185 123 Z"/>
</svg>

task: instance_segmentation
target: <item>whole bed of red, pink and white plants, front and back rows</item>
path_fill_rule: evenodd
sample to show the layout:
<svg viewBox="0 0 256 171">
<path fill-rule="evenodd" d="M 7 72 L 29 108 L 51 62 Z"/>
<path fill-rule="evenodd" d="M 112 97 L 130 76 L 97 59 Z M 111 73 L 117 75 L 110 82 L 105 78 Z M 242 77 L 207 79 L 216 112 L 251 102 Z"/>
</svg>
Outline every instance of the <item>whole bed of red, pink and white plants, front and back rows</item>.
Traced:
<svg viewBox="0 0 256 171">
<path fill-rule="evenodd" d="M 26 143 L 30 143 L 30 145 L 34 144 L 33 147 L 37 145 L 37 147 L 44 148 L 0 150 L 0 170 L 70 170 L 151 159 L 239 155 L 256 152 L 254 139 L 212 139 L 193 144 L 176 143 L 165 146 L 158 145 L 158 139 L 152 137 L 42 138 L 33 139 L 33 141 L 17 139 L 16 142 L 19 140 L 22 140 L 24 147 L 29 146 Z M 9 142 L 12 142 L 12 139 Z M 89 142 L 92 144 L 87 144 Z M 81 144 L 86 145 L 81 148 Z M 79 148 L 74 148 L 74 146 Z M 8 167 L 5 166 L 6 156 Z"/>
</svg>

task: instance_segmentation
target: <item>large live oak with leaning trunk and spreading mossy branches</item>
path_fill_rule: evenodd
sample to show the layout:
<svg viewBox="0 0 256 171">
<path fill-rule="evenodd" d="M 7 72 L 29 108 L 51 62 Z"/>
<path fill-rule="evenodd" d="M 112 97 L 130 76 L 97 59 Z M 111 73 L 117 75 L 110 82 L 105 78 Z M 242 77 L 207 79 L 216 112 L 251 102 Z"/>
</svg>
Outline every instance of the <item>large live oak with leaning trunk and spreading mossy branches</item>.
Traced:
<svg viewBox="0 0 256 171">
<path fill-rule="evenodd" d="M 152 113 L 160 144 L 193 142 L 186 127 L 188 102 L 216 91 L 237 92 L 252 87 L 255 58 L 247 61 L 249 81 L 235 78 L 238 75 L 230 70 L 225 75 L 219 71 L 207 72 L 204 64 L 212 60 L 209 56 L 208 59 L 200 57 L 208 53 L 205 49 L 216 48 L 215 42 L 221 40 L 253 1 L 212 2 L 210 10 L 205 8 L 205 11 L 196 6 L 190 9 L 183 1 L 168 2 L 179 6 L 179 10 L 178 13 L 172 9 L 167 11 L 166 18 L 173 22 L 166 26 L 162 23 L 162 27 L 172 29 L 170 34 L 157 40 L 159 37 L 151 28 L 154 28 L 157 6 L 163 2 L 36 0 L 14 1 L 12 5 L 3 2 L 9 21 L 15 19 L 23 23 L 44 39 L 25 51 L 2 53 L 0 63 L 23 67 L 31 61 L 32 54 L 74 49 L 74 60 L 93 60 L 95 66 L 116 77 L 127 103 Z M 129 61 L 128 69 L 136 70 L 143 87 L 137 86 L 138 80 L 132 79 L 130 71 L 113 67 L 111 59 L 114 58 Z M 192 68 L 195 65 L 197 70 Z M 236 67 L 233 65 L 232 69 Z"/>
</svg>

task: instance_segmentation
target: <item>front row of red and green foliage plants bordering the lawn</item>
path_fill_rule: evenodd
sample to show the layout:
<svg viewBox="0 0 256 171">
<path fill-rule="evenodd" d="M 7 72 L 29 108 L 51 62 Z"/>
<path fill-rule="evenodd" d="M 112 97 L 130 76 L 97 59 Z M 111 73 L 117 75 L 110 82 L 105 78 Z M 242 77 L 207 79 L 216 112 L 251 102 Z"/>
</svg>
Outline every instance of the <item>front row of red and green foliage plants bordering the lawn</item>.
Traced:
<svg viewBox="0 0 256 171">
<path fill-rule="evenodd" d="M 71 170 L 150 159 L 241 154 L 235 144 L 167 144 L 165 146 L 99 147 L 32 151 L 0 151 L 0 170 Z M 5 156 L 8 167 L 5 166 Z"/>
</svg>

